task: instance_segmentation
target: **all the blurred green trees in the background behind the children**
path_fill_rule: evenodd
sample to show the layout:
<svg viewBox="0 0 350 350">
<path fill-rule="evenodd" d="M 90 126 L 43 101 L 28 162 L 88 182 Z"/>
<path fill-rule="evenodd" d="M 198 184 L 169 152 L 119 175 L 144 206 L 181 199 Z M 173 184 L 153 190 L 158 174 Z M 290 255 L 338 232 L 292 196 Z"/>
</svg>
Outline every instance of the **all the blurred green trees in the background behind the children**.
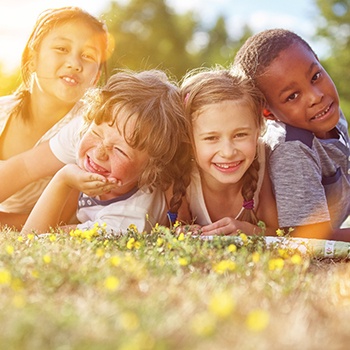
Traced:
<svg viewBox="0 0 350 350">
<path fill-rule="evenodd" d="M 315 20 L 317 38 L 330 47 L 322 64 L 337 85 L 341 107 L 350 121 L 350 0 L 314 0 L 321 16 Z M 224 17 L 208 26 L 194 12 L 176 13 L 166 0 L 111 1 L 101 16 L 115 39 L 109 71 L 160 68 L 174 78 L 191 68 L 215 64 L 228 66 L 252 31 L 245 26 L 232 38 Z M 19 85 L 19 72 L 5 74 L 0 64 L 0 95 Z"/>
</svg>

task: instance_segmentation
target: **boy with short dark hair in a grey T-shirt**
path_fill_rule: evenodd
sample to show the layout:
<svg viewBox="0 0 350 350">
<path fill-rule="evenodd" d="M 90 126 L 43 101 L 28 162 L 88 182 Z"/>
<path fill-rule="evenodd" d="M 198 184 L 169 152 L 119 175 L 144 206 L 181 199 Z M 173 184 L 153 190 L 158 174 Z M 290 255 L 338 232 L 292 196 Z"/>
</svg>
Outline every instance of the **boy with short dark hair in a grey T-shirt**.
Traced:
<svg viewBox="0 0 350 350">
<path fill-rule="evenodd" d="M 250 37 L 240 68 L 264 94 L 278 222 L 295 237 L 350 241 L 350 140 L 331 77 L 309 44 L 285 29 Z"/>
</svg>

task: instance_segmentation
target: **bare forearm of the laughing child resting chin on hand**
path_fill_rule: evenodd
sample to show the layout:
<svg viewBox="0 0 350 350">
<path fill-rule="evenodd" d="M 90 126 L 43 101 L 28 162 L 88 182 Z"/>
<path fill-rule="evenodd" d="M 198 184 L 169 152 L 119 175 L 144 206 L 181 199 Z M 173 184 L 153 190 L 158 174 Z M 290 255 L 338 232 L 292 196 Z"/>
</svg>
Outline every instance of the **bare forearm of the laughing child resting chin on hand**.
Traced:
<svg viewBox="0 0 350 350">
<path fill-rule="evenodd" d="M 62 224 L 63 218 L 68 220 L 72 214 L 71 196 L 75 196 L 75 209 L 77 207 L 78 191 L 74 185 L 81 174 L 78 169 L 77 165 L 68 164 L 56 173 L 30 213 L 22 233 L 48 232 L 50 227 Z"/>
</svg>

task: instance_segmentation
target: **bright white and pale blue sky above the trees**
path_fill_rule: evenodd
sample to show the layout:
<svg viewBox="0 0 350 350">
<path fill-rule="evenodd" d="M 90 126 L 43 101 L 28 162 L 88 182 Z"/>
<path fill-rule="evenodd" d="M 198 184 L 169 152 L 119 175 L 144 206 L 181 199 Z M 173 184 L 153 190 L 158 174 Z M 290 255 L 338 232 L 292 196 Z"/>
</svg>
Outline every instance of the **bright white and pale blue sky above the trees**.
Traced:
<svg viewBox="0 0 350 350">
<path fill-rule="evenodd" d="M 127 1 L 127 0 L 119 0 Z M 322 57 L 325 46 L 315 42 L 313 34 L 318 20 L 314 0 L 167 0 L 178 12 L 195 10 L 202 20 L 212 23 L 218 14 L 227 18 L 228 30 L 240 36 L 243 24 L 254 32 L 283 27 L 303 36 Z M 0 0 L 0 62 L 11 71 L 19 67 L 22 50 L 35 21 L 43 10 L 62 6 L 79 6 L 99 16 L 110 0 Z"/>
</svg>

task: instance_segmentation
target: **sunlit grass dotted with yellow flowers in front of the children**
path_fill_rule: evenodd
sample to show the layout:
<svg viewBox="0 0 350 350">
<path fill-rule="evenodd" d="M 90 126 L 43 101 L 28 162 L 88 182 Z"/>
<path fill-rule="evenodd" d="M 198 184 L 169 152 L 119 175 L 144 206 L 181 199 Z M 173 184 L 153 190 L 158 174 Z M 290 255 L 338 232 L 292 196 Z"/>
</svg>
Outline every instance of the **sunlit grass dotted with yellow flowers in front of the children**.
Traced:
<svg viewBox="0 0 350 350">
<path fill-rule="evenodd" d="M 350 266 L 245 235 L 0 236 L 0 349 L 347 349 Z"/>
</svg>

